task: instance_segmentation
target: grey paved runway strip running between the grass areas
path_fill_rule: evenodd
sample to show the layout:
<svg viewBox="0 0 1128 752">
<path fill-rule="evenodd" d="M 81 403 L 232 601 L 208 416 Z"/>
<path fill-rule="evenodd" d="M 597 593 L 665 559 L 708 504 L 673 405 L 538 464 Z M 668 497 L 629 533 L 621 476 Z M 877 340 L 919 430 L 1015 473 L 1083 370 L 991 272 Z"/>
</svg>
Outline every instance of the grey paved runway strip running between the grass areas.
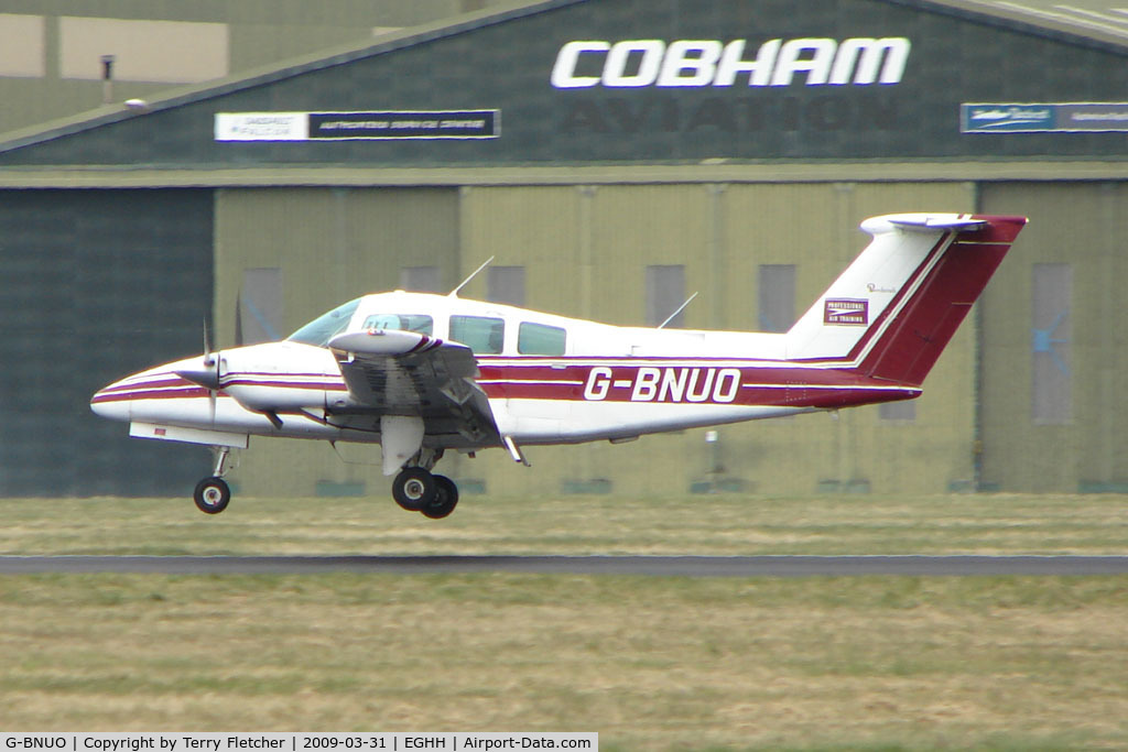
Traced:
<svg viewBox="0 0 1128 752">
<path fill-rule="evenodd" d="M 0 556 L 0 574 L 1122 575 L 1128 556 Z"/>
</svg>

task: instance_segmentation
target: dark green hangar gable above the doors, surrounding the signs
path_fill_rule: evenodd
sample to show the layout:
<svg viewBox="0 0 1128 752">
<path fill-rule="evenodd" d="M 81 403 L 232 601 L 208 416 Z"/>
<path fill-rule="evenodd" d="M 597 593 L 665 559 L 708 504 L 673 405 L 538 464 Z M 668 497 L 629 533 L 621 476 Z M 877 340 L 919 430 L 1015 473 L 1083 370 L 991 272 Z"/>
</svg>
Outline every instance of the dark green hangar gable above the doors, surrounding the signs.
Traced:
<svg viewBox="0 0 1128 752">
<path fill-rule="evenodd" d="M 1022 179 L 1045 171 L 1042 161 L 1032 160 L 1047 158 L 1057 162 L 1057 168 L 1049 170 L 1056 176 L 1119 175 L 1110 160 L 1128 158 L 1123 130 L 1089 129 L 1066 134 L 1061 130 L 1015 129 L 971 135 L 973 131 L 957 130 L 952 112 L 962 112 L 969 103 L 995 103 L 993 107 L 1010 103 L 1034 103 L 1037 107 L 1041 107 L 1038 103 L 1054 107 L 1082 101 L 1123 104 L 1128 12 L 1079 5 L 1050 6 L 1045 0 L 1022 5 L 994 0 L 817 0 L 807 3 L 811 9 L 804 15 L 782 0 L 651 0 L 644 10 L 637 0 L 523 0 L 405 29 L 376 43 L 326 50 L 246 76 L 182 88 L 143 108 L 104 107 L 6 134 L 0 136 L 0 185 L 34 185 L 36 179 L 47 185 L 102 184 L 106 170 L 127 170 L 135 180 L 124 178 L 131 185 L 153 180 L 162 185 L 417 183 L 418 170 L 439 183 L 521 182 L 520 174 L 531 182 L 574 182 L 575 169 L 601 179 L 600 171 L 608 169 L 671 176 L 686 167 L 697 168 L 699 175 L 761 176 L 751 179 L 808 175 L 825 179 L 819 176 L 840 175 L 843 165 L 861 175 L 876 169 L 884 179 L 890 171 L 916 175 L 922 169 L 961 179 L 986 165 L 995 174 Z M 705 12 L 698 12 L 703 9 Z M 792 74 L 784 77 L 791 86 L 784 89 L 779 85 L 778 70 L 772 86 L 760 89 L 752 89 L 749 76 L 748 88 L 738 87 L 747 97 L 737 101 L 706 96 L 730 94 L 716 81 L 711 87 L 677 83 L 681 88 L 675 90 L 647 89 L 637 86 L 635 78 L 613 88 L 611 83 L 589 83 L 598 81 L 598 76 L 578 73 L 574 80 L 582 81 L 580 87 L 546 85 L 553 59 L 559 64 L 562 45 L 569 39 L 607 39 L 609 46 L 623 38 L 712 36 L 721 44 L 731 38 L 734 23 L 755 32 L 748 34 L 748 52 L 739 57 L 743 62 L 755 57 L 754 45 L 764 39 L 785 41 L 785 53 L 786 44 L 797 45 L 790 59 Z M 622 33 L 623 28 L 631 28 L 631 33 Z M 881 42 L 902 39 L 905 56 L 911 48 L 904 80 L 861 81 L 863 74 L 857 72 L 847 86 L 812 85 L 811 69 L 818 65 L 819 56 L 830 55 L 828 70 L 835 59 L 832 48 L 814 48 L 812 41 L 841 42 L 845 50 L 851 43 L 873 42 L 874 37 Z M 952 39 L 957 41 L 954 51 Z M 658 44 L 666 48 L 664 43 Z M 773 54 L 778 52 L 776 48 Z M 581 53 L 588 53 L 587 57 L 576 57 L 580 62 L 573 63 L 610 57 L 606 50 Z M 698 53 L 682 51 L 685 65 L 676 68 L 675 76 L 680 74 L 682 81 L 691 78 L 685 73 L 694 71 L 690 63 Z M 884 54 L 888 67 L 897 53 L 890 47 L 875 54 Z M 628 47 L 623 54 L 627 55 L 624 60 L 637 64 L 638 55 L 650 52 Z M 855 48 L 853 54 L 847 65 L 853 62 L 855 68 L 847 70 L 847 78 L 852 71 L 861 71 L 858 61 L 864 62 L 869 51 Z M 685 55 L 689 55 L 689 63 Z M 906 61 L 901 63 L 905 67 Z M 919 80 L 910 81 L 910 76 Z M 802 86 L 803 77 L 807 86 Z M 875 86 L 849 86 L 858 82 Z M 957 98 L 944 100 L 943 92 L 952 89 Z M 784 96 L 768 98 L 781 92 Z M 628 99 L 626 95 L 640 96 Z M 847 95 L 856 96 L 849 99 Z M 755 104 L 756 113 L 748 103 Z M 350 138 L 337 140 L 333 152 L 325 142 L 312 147 L 268 139 L 235 143 L 222 141 L 215 132 L 220 113 L 305 116 L 325 112 L 451 116 L 493 112 L 499 123 L 491 124 L 495 133 L 481 140 Z M 1117 107 L 1092 117 L 1119 123 L 1120 113 Z M 967 120 L 967 113 L 962 116 Z M 883 117 L 896 122 L 881 123 Z M 504 121 L 504 132 L 500 121 Z M 733 133 L 735 138 L 731 138 Z M 694 138 L 687 139 L 687 134 Z M 699 142 L 702 148 L 687 145 L 689 141 Z M 890 166 L 905 160 L 909 166 Z M 100 177 L 91 175 L 91 166 Z M 532 177 L 527 172 L 530 166 L 536 168 Z M 361 168 L 364 175 L 356 174 Z M 271 176 L 256 170 L 270 170 Z M 553 177 L 554 170 L 564 175 Z M 123 176 L 113 179 L 122 180 Z"/>
</svg>

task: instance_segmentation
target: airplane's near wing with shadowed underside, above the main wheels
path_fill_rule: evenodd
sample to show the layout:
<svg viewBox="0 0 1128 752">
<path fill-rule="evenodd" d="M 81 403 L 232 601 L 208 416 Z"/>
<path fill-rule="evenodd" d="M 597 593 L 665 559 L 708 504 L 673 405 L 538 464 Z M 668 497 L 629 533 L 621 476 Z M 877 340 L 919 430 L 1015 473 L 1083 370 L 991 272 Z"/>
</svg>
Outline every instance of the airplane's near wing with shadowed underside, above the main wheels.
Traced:
<svg viewBox="0 0 1128 752">
<path fill-rule="evenodd" d="M 352 415 L 418 415 L 443 446 L 500 445 L 469 347 L 416 331 L 378 329 L 328 343 L 349 387 Z M 332 409 L 332 408 L 331 408 Z"/>
</svg>

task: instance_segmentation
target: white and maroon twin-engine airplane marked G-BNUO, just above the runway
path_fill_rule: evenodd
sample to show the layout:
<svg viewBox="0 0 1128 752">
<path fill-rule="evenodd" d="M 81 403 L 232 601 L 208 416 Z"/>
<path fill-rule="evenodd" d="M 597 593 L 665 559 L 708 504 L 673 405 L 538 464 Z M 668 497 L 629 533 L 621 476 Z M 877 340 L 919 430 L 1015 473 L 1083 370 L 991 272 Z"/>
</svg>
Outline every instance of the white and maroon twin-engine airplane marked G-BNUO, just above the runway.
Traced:
<svg viewBox="0 0 1128 752">
<path fill-rule="evenodd" d="M 597 324 L 450 295 L 364 295 L 270 344 L 205 352 L 94 395 L 130 435 L 209 444 L 195 489 L 209 514 L 249 436 L 379 443 L 391 494 L 438 519 L 458 488 L 431 470 L 470 455 L 629 441 L 813 410 L 913 399 L 1026 220 L 869 219 L 869 247 L 786 334 Z M 205 346 L 205 350 L 209 350 Z"/>
</svg>

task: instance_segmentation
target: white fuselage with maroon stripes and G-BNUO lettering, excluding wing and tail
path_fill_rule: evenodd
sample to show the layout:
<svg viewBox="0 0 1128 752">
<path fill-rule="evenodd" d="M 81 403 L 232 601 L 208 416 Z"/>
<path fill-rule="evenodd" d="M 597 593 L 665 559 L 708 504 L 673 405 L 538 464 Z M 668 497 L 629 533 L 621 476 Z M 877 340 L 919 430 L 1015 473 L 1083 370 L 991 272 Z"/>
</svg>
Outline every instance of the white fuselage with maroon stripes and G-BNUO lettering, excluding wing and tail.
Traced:
<svg viewBox="0 0 1128 752">
<path fill-rule="evenodd" d="M 389 318 L 390 317 L 390 318 Z M 360 299 L 341 331 L 391 322 L 439 339 L 474 339 L 476 388 L 497 433 L 518 443 L 626 440 L 646 433 L 914 397 L 836 365 L 786 361 L 786 335 L 616 327 L 453 297 L 391 292 Z M 115 382 L 94 409 L 140 436 L 246 445 L 248 435 L 379 442 L 352 409 L 337 359 L 296 340 L 212 355 L 219 389 L 178 373 L 200 356 Z M 433 440 L 431 440 L 433 441 Z M 450 440 L 448 440 L 450 441 Z M 477 449 L 457 439 L 451 446 Z"/>
</svg>

